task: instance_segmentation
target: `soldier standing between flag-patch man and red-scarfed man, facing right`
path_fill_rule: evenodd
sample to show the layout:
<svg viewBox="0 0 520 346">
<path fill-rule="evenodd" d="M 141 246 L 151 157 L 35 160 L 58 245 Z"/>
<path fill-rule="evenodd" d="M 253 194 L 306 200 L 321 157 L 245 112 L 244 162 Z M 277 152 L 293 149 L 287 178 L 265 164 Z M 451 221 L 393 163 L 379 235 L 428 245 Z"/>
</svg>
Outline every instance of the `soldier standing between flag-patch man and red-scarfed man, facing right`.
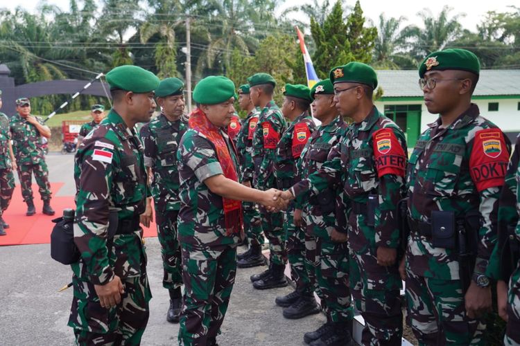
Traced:
<svg viewBox="0 0 520 346">
<path fill-rule="evenodd" d="M 144 145 L 144 165 L 153 177 L 151 182 L 155 206 L 157 237 L 161 244 L 164 276 L 162 286 L 168 289 L 170 307 L 166 314 L 168 322 L 179 322 L 182 306 L 182 286 L 180 246 L 177 241 L 177 216 L 180 200 L 179 172 L 177 170 L 177 149 L 180 138 L 187 130 L 184 112 L 184 83 L 178 78 L 162 80 L 155 95 L 161 107 L 161 114 L 141 127 Z M 152 217 L 150 200 L 147 200 L 144 215 Z M 149 219 L 143 220 L 148 226 Z"/>
</svg>

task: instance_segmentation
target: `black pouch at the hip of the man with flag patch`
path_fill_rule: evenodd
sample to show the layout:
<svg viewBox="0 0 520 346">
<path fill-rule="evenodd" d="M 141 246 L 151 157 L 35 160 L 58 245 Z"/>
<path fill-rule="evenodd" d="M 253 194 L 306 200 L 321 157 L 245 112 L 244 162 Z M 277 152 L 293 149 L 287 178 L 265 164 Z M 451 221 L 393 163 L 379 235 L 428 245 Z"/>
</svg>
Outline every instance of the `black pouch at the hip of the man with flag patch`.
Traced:
<svg viewBox="0 0 520 346">
<path fill-rule="evenodd" d="M 74 219 L 53 219 L 51 233 L 51 257 L 62 264 L 73 264 L 80 259 L 80 251 L 74 244 Z"/>
</svg>

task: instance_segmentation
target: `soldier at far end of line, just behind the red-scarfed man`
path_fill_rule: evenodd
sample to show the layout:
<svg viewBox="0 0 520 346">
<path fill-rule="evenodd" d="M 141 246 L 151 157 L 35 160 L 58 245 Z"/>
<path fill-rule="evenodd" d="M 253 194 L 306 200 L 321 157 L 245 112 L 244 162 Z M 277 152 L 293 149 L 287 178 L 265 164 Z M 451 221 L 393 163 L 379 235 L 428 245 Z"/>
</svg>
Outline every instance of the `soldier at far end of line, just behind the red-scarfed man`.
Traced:
<svg viewBox="0 0 520 346">
<path fill-rule="evenodd" d="M 240 181 L 243 185 L 251 188 L 253 181 L 252 171 L 244 168 L 252 165 L 253 134 L 254 130 L 257 129 L 260 111 L 251 102 L 249 84 L 243 84 L 239 87 L 239 104 L 241 109 L 248 112 L 240 132 L 236 136 L 236 151 L 239 153 L 240 167 L 242 167 L 240 170 Z M 239 261 L 236 262 L 236 266 L 239 268 L 263 266 L 266 264 L 266 259 L 262 255 L 264 239 L 260 212 L 254 203 L 244 202 L 242 203 L 242 208 L 244 213 L 244 232 L 250 248 L 245 253 L 237 256 Z"/>
</svg>

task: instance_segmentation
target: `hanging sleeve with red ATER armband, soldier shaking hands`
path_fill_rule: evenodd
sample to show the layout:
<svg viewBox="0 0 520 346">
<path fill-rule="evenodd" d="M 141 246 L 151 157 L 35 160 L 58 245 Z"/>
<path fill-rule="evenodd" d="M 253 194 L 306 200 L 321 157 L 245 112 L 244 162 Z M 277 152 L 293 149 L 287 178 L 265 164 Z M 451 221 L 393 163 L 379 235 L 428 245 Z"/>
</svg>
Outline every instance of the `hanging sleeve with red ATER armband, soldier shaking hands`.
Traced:
<svg viewBox="0 0 520 346">
<path fill-rule="evenodd" d="M 390 140 L 390 151 L 381 154 L 379 140 Z M 406 139 L 404 134 L 393 128 L 383 128 L 374 132 L 374 158 L 379 176 L 379 208 L 375 215 L 376 246 L 397 248 L 399 246 L 399 226 L 397 225 L 396 206 L 404 192 L 406 169 Z"/>
</svg>

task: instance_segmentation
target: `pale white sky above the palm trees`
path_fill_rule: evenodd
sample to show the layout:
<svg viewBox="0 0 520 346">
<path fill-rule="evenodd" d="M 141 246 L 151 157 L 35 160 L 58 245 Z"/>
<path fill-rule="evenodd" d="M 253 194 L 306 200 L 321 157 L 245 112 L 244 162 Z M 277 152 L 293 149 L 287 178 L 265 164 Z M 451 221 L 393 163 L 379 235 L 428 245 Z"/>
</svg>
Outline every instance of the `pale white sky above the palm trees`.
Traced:
<svg viewBox="0 0 520 346">
<path fill-rule="evenodd" d="M 286 0 L 284 6 L 287 8 L 291 6 L 298 6 L 302 3 L 311 3 L 312 0 Z M 322 2 L 322 0 L 318 0 Z M 335 0 L 330 0 L 333 3 Z M 0 8 L 9 8 L 10 10 L 15 9 L 17 6 L 21 6 L 31 12 L 35 12 L 40 0 L 12 0 L 2 1 Z M 63 10 L 68 10 L 69 0 L 46 0 L 47 3 L 56 5 Z M 344 0 L 345 3 L 354 6 L 355 0 Z M 508 6 L 518 3 L 518 0 L 492 0 L 492 1 L 478 1 L 478 0 L 436 0 L 436 1 L 418 1 L 418 0 L 361 0 L 361 8 L 365 13 L 365 17 L 372 19 L 374 23 L 379 21 L 379 15 L 381 12 L 385 13 L 388 17 L 400 17 L 404 16 L 408 19 L 408 24 L 415 24 L 422 26 L 422 23 L 417 17 L 417 12 L 424 8 L 430 8 L 434 15 L 437 15 L 442 7 L 445 5 L 453 8 L 451 15 L 458 13 L 466 13 L 465 17 L 460 19 L 460 24 L 464 28 L 469 30 L 476 30 L 476 25 L 482 21 L 487 11 L 495 10 L 497 12 L 507 12 L 512 10 Z M 520 7 L 520 5 L 517 5 Z"/>
</svg>

